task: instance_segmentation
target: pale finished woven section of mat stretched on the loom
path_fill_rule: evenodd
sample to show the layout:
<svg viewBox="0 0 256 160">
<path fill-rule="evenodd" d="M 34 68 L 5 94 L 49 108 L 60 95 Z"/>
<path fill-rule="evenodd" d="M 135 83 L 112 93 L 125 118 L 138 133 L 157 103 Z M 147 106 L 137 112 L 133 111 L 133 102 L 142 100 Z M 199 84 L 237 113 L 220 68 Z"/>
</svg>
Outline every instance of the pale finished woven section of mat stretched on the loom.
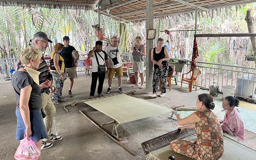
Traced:
<svg viewBox="0 0 256 160">
<path fill-rule="evenodd" d="M 170 108 L 125 94 L 84 103 L 115 119 L 119 124 L 173 111 Z"/>
</svg>

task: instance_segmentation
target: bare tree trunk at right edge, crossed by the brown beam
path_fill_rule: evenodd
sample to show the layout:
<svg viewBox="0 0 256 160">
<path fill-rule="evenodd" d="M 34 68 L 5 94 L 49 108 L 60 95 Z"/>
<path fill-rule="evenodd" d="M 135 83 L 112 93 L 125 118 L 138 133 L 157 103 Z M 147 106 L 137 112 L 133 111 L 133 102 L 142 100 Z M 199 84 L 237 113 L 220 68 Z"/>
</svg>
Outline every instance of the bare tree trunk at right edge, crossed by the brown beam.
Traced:
<svg viewBox="0 0 256 160">
<path fill-rule="evenodd" d="M 247 22 L 248 32 L 249 33 L 255 33 L 255 25 L 254 25 L 254 16 L 251 16 L 252 8 L 249 8 L 246 11 L 245 21 Z M 254 56 L 256 56 L 256 37 L 251 36 L 251 43 L 252 43 L 252 53 L 254 53 Z M 256 65 L 256 61 L 254 61 L 254 64 Z"/>
</svg>

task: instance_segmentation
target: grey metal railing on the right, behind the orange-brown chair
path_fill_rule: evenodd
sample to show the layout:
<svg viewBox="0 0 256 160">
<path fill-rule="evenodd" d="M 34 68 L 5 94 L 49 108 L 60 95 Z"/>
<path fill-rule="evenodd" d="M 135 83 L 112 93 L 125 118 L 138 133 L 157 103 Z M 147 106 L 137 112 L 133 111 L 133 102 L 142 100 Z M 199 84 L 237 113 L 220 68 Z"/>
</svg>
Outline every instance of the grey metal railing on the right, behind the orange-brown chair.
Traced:
<svg viewBox="0 0 256 160">
<path fill-rule="evenodd" d="M 180 59 L 171 58 L 171 60 Z M 187 73 L 190 70 L 191 61 L 180 61 L 185 62 L 182 73 Z M 256 68 L 199 61 L 196 62 L 196 66 L 201 70 L 201 75 L 197 77 L 198 87 L 208 89 L 209 85 L 218 84 L 220 92 L 223 92 L 223 89 L 225 89 L 224 85 L 231 85 L 236 87 L 236 96 L 256 100 L 255 97 L 253 98 L 256 87 Z M 181 80 L 182 73 L 179 76 L 179 81 Z M 185 78 L 190 77 L 191 74 L 188 74 Z"/>
</svg>

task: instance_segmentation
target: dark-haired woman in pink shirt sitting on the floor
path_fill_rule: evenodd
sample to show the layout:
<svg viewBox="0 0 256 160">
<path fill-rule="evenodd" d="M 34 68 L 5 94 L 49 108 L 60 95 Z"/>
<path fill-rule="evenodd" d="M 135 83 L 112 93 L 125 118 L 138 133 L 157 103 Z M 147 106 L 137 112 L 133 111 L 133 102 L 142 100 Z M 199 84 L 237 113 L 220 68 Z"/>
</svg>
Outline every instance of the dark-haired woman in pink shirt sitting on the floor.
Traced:
<svg viewBox="0 0 256 160">
<path fill-rule="evenodd" d="M 239 100 L 233 96 L 227 96 L 222 102 L 223 109 L 226 110 L 221 128 L 228 134 L 237 136 L 241 141 L 244 141 L 244 122 L 236 110 L 235 106 L 239 105 Z"/>
</svg>

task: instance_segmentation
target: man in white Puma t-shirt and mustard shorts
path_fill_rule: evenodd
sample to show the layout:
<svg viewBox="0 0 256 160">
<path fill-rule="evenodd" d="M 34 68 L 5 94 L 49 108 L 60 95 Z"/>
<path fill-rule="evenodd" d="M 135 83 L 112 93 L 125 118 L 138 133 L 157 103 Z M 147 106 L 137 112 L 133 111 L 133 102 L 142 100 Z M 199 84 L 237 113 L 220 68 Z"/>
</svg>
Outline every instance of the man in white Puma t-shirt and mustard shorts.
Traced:
<svg viewBox="0 0 256 160">
<path fill-rule="evenodd" d="M 124 93 L 122 89 L 122 76 L 123 76 L 123 63 L 122 63 L 122 53 L 123 48 L 120 45 L 117 45 L 118 39 L 117 37 L 112 38 L 112 44 L 108 45 L 106 48 L 106 52 L 108 57 L 111 60 L 108 60 L 109 63 L 109 73 L 108 73 L 108 90 L 106 93 L 110 93 L 112 78 L 116 72 L 117 79 L 118 79 L 118 91 L 120 93 Z"/>
</svg>

